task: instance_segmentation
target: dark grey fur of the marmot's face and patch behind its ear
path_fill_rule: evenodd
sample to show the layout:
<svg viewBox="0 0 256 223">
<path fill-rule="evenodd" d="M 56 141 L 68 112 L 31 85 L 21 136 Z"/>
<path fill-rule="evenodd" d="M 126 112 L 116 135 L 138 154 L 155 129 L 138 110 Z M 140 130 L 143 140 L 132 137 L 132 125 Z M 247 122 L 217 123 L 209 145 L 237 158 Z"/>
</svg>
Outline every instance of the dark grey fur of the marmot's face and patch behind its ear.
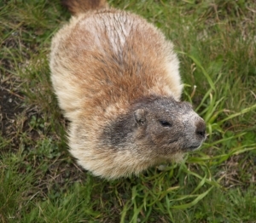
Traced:
<svg viewBox="0 0 256 223">
<path fill-rule="evenodd" d="M 137 102 L 130 113 L 104 129 L 102 136 L 113 148 L 134 146 L 139 153 L 168 157 L 200 147 L 206 139 L 206 125 L 188 102 L 152 97 Z"/>
</svg>

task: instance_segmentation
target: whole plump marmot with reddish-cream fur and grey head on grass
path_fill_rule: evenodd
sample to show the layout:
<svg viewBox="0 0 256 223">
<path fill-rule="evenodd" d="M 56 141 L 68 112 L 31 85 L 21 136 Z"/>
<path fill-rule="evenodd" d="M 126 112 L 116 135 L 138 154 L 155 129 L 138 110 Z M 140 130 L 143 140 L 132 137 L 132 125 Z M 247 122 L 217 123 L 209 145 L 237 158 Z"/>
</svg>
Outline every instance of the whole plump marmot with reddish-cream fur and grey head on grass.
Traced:
<svg viewBox="0 0 256 223">
<path fill-rule="evenodd" d="M 51 81 L 70 121 L 68 145 L 92 174 L 116 179 L 177 161 L 206 139 L 163 33 L 102 0 L 67 0 L 70 22 L 53 37 Z"/>
</svg>

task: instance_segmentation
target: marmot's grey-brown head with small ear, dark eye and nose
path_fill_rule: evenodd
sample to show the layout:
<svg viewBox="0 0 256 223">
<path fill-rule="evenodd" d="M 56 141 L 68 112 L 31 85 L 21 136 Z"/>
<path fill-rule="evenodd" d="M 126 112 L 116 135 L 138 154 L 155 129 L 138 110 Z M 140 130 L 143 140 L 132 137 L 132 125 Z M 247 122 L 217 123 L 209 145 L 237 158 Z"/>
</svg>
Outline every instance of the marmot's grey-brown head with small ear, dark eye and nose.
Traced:
<svg viewBox="0 0 256 223">
<path fill-rule="evenodd" d="M 134 111 L 134 119 L 138 136 L 148 140 L 160 156 L 193 151 L 206 139 L 206 124 L 188 102 L 149 100 Z"/>
</svg>

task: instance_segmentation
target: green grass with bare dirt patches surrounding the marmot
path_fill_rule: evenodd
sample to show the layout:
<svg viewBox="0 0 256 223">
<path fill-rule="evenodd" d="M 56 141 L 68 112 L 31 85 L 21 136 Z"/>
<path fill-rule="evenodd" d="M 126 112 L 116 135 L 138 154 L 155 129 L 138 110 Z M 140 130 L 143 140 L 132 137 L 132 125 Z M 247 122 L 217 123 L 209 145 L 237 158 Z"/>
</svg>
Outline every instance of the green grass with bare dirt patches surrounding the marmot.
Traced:
<svg viewBox="0 0 256 223">
<path fill-rule="evenodd" d="M 110 3 L 172 39 L 206 143 L 130 179 L 80 169 L 49 82 L 50 39 L 70 15 L 57 0 L 2 1 L 0 221 L 256 222 L 256 3 Z"/>
</svg>

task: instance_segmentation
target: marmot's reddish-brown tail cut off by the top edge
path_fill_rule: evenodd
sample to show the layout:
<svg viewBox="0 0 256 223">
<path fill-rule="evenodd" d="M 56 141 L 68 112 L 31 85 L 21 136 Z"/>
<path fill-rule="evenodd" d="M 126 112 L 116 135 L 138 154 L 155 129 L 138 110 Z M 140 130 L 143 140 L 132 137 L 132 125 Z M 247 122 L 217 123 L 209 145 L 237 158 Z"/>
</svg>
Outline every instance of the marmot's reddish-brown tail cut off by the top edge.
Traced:
<svg viewBox="0 0 256 223">
<path fill-rule="evenodd" d="M 108 8 L 106 0 L 62 0 L 61 3 L 66 6 L 72 14 L 81 14 L 92 9 Z"/>
</svg>

